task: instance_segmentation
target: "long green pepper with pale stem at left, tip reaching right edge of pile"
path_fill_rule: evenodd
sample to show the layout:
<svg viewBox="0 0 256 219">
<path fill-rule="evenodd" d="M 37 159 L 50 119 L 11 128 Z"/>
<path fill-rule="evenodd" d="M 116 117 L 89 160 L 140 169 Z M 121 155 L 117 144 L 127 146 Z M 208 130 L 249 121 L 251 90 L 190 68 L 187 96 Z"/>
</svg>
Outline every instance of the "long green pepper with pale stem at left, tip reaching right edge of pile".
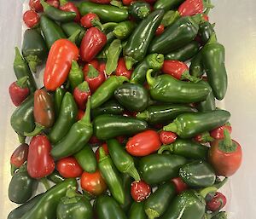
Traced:
<svg viewBox="0 0 256 219">
<path fill-rule="evenodd" d="M 230 120 L 230 112 L 215 110 L 212 112 L 187 112 L 179 115 L 172 124 L 163 129 L 177 133 L 181 138 L 191 138 L 205 131 L 214 130 Z"/>
</svg>

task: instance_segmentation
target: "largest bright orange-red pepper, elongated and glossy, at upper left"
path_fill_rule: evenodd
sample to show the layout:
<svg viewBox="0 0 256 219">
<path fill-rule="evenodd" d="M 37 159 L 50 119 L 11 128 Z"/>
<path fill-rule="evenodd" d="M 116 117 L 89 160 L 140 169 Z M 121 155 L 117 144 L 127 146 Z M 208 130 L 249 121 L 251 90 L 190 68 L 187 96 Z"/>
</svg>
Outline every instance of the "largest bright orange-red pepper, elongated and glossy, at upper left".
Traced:
<svg viewBox="0 0 256 219">
<path fill-rule="evenodd" d="M 79 49 L 68 39 L 58 39 L 49 50 L 44 69 L 44 86 L 55 90 L 63 84 L 68 76 L 73 60 L 79 59 Z"/>
</svg>

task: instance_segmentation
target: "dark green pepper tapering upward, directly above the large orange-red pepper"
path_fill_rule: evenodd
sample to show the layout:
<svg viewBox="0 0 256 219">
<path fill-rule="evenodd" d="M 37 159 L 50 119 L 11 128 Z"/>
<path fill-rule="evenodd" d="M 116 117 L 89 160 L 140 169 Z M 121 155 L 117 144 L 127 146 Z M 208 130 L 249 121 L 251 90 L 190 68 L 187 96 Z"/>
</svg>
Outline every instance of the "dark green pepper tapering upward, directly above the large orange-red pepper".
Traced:
<svg viewBox="0 0 256 219">
<path fill-rule="evenodd" d="M 50 20 L 46 15 L 42 14 L 40 17 L 40 27 L 44 33 L 44 39 L 48 49 L 55 43 L 56 40 L 66 38 L 65 33 L 61 30 L 54 20 Z"/>
</svg>

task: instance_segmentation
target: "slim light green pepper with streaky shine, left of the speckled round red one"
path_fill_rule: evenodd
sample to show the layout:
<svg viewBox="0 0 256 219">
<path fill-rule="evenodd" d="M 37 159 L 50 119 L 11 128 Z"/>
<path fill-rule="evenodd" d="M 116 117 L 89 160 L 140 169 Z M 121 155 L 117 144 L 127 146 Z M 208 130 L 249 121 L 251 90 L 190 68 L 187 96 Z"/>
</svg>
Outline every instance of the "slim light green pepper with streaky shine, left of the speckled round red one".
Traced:
<svg viewBox="0 0 256 219">
<path fill-rule="evenodd" d="M 119 176 L 118 170 L 113 164 L 112 159 L 106 155 L 102 147 L 100 147 L 99 153 L 100 159 L 98 166 L 102 177 L 107 183 L 113 198 L 116 199 L 119 204 L 123 205 L 125 204 L 125 189 L 122 185 L 122 179 Z"/>
</svg>

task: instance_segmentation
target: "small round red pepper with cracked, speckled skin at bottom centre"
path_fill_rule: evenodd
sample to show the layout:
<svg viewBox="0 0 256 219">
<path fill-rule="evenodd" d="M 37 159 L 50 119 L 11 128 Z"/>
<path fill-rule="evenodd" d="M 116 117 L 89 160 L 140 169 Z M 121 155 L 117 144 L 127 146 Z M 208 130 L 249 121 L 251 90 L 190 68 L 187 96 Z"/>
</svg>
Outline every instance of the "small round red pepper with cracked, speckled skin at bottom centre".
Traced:
<svg viewBox="0 0 256 219">
<path fill-rule="evenodd" d="M 131 197 L 137 202 L 142 202 L 148 199 L 151 193 L 151 187 L 146 182 L 132 182 L 131 183 Z"/>
</svg>

